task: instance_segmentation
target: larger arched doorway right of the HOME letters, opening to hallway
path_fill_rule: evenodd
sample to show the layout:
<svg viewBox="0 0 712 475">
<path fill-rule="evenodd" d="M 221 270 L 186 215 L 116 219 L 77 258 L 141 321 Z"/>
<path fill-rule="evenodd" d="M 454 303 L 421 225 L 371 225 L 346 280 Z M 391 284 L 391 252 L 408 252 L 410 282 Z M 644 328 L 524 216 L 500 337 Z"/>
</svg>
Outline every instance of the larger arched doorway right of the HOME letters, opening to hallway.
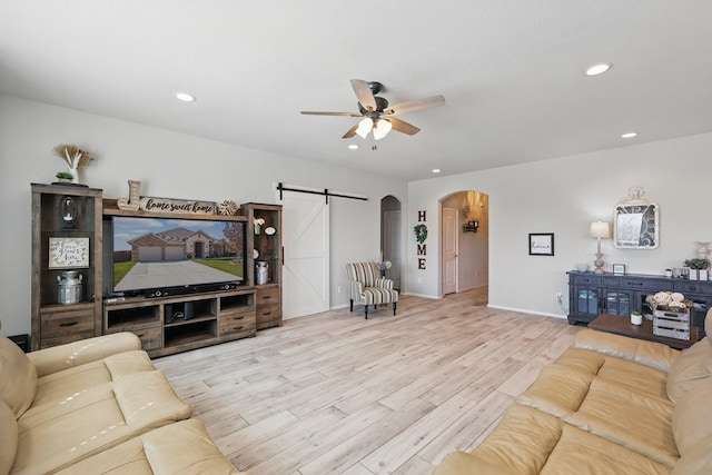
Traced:
<svg viewBox="0 0 712 475">
<path fill-rule="evenodd" d="M 482 191 L 458 191 L 441 200 L 441 295 L 490 285 L 490 200 Z"/>
</svg>

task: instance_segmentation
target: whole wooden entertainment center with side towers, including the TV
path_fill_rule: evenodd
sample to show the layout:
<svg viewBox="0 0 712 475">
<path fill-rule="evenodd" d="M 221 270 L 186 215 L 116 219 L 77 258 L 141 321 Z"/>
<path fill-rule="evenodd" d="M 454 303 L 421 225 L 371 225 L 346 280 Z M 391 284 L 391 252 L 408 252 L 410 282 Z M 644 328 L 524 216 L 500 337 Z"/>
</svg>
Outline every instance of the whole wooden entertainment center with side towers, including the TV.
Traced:
<svg viewBox="0 0 712 475">
<path fill-rule="evenodd" d="M 281 206 L 155 212 L 80 185 L 31 188 L 32 350 L 131 331 L 157 357 L 281 325 Z"/>
</svg>

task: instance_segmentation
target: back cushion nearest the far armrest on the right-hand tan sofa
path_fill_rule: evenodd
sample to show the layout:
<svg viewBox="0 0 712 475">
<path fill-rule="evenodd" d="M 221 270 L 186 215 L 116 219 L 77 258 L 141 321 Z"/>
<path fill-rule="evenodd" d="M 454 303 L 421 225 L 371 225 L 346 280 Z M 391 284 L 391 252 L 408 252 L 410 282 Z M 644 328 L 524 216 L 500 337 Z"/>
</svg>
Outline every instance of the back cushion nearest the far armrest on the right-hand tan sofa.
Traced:
<svg viewBox="0 0 712 475">
<path fill-rule="evenodd" d="M 712 318 L 710 318 L 712 320 Z M 682 352 L 668 374 L 668 397 L 678 403 L 688 390 L 712 376 L 712 343 L 704 338 Z"/>
</svg>

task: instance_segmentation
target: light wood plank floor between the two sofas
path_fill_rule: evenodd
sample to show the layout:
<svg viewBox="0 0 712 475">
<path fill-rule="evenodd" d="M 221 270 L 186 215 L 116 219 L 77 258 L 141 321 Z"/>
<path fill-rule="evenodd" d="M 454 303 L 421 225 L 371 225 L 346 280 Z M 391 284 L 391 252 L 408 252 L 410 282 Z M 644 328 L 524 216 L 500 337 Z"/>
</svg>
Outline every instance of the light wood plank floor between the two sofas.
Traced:
<svg viewBox="0 0 712 475">
<path fill-rule="evenodd" d="M 485 300 L 402 297 L 395 317 L 327 311 L 155 363 L 238 469 L 431 474 L 474 448 L 580 330 Z"/>
</svg>

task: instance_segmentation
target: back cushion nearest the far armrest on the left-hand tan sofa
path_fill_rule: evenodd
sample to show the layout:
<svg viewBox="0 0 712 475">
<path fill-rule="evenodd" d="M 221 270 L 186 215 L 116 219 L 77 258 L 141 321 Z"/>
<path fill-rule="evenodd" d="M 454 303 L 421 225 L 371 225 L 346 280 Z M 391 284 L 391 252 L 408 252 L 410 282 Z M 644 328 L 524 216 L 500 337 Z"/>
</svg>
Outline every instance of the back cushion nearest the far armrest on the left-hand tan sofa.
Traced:
<svg viewBox="0 0 712 475">
<path fill-rule="evenodd" d="M 37 388 L 34 365 L 19 346 L 0 335 L 0 399 L 18 418 L 30 407 Z"/>
</svg>

